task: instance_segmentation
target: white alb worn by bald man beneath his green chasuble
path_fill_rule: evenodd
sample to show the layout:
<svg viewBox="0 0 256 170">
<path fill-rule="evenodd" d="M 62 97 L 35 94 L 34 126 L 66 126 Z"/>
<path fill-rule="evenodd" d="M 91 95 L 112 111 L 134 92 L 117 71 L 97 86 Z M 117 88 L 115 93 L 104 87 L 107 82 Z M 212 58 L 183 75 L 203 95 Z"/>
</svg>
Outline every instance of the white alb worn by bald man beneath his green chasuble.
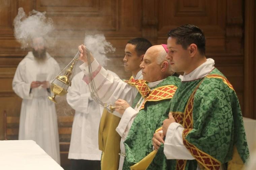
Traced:
<svg viewBox="0 0 256 170">
<path fill-rule="evenodd" d="M 82 64 L 80 68 L 83 70 L 86 76 L 88 76 L 88 66 L 86 63 Z M 106 79 L 104 82 L 104 85 L 102 88 L 98 91 L 99 97 L 101 98 L 102 102 L 114 105 L 115 101 L 118 99 L 125 100 L 130 106 L 132 105 L 132 102 L 137 95 L 138 91 L 135 87 L 130 86 L 129 84 L 123 82 L 121 79 L 113 77 L 107 73 L 107 71 L 101 67 L 96 60 L 92 62 L 92 72 L 94 75 L 94 82 L 96 85 L 96 88 L 100 86 L 100 84 Z M 97 72 L 97 73 L 96 73 Z M 141 70 L 137 73 L 136 78 L 141 78 Z M 157 86 L 160 81 L 151 82 L 149 83 L 149 87 L 155 87 Z M 116 131 L 119 133 L 119 135 L 122 137 L 120 142 L 120 162 L 119 162 L 119 170 L 123 168 L 124 163 L 124 144 L 123 141 L 125 141 L 128 132 L 131 128 L 132 122 L 138 113 L 144 99 L 141 97 L 139 100 L 139 106 L 136 105 L 136 108 L 127 108 L 123 115 L 121 115 L 118 112 L 114 112 L 116 116 L 121 117 L 120 123 L 116 129 Z M 135 116 L 134 116 L 135 115 Z M 134 116 L 134 117 L 133 117 Z M 127 129 L 126 129 L 127 127 Z"/>
</svg>

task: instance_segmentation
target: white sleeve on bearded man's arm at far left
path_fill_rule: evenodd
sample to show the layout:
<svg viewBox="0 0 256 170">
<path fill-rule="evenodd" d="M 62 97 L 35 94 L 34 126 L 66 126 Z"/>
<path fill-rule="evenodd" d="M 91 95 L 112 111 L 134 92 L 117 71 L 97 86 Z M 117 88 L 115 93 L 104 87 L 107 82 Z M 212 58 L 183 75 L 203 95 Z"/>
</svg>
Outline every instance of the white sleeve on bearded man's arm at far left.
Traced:
<svg viewBox="0 0 256 170">
<path fill-rule="evenodd" d="M 26 65 L 25 62 L 21 62 L 14 74 L 12 80 L 12 90 L 22 99 L 32 99 L 32 94 L 30 94 L 30 84 L 31 82 L 26 82 L 24 79 L 26 77 Z"/>
</svg>

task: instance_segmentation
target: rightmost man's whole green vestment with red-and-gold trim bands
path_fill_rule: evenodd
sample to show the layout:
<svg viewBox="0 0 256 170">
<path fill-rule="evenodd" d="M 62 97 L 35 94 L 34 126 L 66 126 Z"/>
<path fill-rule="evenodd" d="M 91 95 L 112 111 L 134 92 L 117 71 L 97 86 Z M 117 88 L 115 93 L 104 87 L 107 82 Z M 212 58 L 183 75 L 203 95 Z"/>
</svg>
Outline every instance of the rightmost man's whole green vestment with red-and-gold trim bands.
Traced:
<svg viewBox="0 0 256 170">
<path fill-rule="evenodd" d="M 201 169 L 220 169 L 221 164 L 229 168 L 232 159 L 242 167 L 249 158 L 236 93 L 217 68 L 203 78 L 183 81 L 170 112 L 185 128 L 183 143 L 195 160 L 168 160 L 168 169 L 195 170 L 197 164 Z"/>
</svg>

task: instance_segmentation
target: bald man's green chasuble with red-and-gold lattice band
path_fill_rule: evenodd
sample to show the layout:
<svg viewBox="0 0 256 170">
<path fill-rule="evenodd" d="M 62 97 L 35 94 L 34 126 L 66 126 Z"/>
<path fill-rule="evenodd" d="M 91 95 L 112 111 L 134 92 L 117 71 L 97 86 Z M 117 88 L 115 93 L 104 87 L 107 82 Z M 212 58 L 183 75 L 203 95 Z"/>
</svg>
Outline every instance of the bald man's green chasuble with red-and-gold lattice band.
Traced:
<svg viewBox="0 0 256 170">
<path fill-rule="evenodd" d="M 155 130 L 161 127 L 163 120 L 168 117 L 170 101 L 180 81 L 178 77 L 169 76 L 151 89 L 146 83 L 130 83 L 139 91 L 132 107 L 135 107 L 141 95 L 145 98 L 145 102 L 134 118 L 126 140 L 124 141 L 126 156 L 123 169 L 130 170 L 130 166 L 136 164 L 152 152 L 152 137 Z M 162 149 L 158 151 L 148 169 L 160 170 L 166 169 L 166 167 L 166 158 Z"/>
</svg>

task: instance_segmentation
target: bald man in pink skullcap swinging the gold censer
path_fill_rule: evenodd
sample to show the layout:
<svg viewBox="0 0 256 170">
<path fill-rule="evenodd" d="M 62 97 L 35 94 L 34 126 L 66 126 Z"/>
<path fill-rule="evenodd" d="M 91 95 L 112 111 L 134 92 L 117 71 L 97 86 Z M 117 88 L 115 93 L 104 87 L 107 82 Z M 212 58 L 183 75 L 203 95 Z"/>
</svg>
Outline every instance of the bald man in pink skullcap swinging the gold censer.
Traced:
<svg viewBox="0 0 256 170">
<path fill-rule="evenodd" d="M 79 46 L 80 66 L 88 77 L 86 47 Z M 168 117 L 170 100 L 180 84 L 180 79 L 171 76 L 170 65 L 165 58 L 166 45 L 150 47 L 140 64 L 143 80 L 131 78 L 129 81 L 111 76 L 91 55 L 92 75 L 102 102 L 116 105 L 113 113 L 121 117 L 116 131 L 122 137 L 120 143 L 119 169 L 130 169 L 152 151 L 152 137 Z M 131 107 L 132 106 L 132 107 Z M 163 151 L 159 151 L 150 164 L 150 169 L 165 169 Z"/>
</svg>

